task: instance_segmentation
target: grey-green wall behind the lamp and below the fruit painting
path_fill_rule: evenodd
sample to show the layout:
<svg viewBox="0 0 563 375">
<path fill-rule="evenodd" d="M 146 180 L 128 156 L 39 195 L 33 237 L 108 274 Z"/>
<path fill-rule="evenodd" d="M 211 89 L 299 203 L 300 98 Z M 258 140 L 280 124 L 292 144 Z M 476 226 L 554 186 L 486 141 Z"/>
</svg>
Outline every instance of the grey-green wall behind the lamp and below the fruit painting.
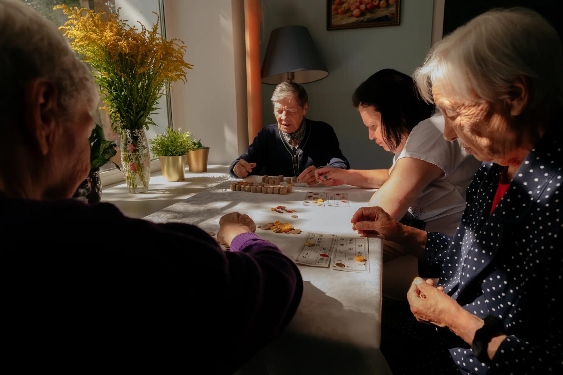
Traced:
<svg viewBox="0 0 563 375">
<path fill-rule="evenodd" d="M 306 26 L 329 76 L 305 85 L 307 117 L 333 126 L 352 168 L 388 168 L 392 154 L 369 141 L 358 111 L 351 105 L 354 89 L 376 71 L 391 67 L 412 74 L 430 48 L 432 0 L 402 0 L 399 26 L 327 31 L 325 0 L 263 0 L 266 52 L 270 31 L 288 25 Z M 262 85 L 264 125 L 275 123 L 270 97 L 274 85 Z"/>
</svg>

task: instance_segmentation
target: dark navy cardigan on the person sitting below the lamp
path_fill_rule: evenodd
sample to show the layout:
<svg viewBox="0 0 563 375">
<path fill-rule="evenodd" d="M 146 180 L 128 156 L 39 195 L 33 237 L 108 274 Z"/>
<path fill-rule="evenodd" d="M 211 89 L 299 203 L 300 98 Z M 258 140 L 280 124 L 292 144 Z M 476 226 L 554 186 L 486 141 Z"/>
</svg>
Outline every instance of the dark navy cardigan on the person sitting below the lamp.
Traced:
<svg viewBox="0 0 563 375">
<path fill-rule="evenodd" d="M 306 119 L 305 126 L 305 136 L 296 152 L 285 142 L 277 124 L 266 126 L 258 132 L 247 152 L 231 163 L 229 173 L 232 177 L 238 177 L 233 169 L 240 159 L 256 163 L 249 175 L 283 174 L 285 177 L 292 177 L 300 175 L 311 165 L 317 168 L 332 166 L 350 169 L 350 163 L 340 151 L 332 126 L 309 119 Z"/>
</svg>

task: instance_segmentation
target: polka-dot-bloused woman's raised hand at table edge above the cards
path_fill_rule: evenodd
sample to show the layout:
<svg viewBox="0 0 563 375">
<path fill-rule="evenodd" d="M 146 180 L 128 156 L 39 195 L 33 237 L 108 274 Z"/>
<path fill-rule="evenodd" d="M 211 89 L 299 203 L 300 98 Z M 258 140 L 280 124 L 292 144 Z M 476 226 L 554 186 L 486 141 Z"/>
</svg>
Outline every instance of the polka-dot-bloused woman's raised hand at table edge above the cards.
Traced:
<svg viewBox="0 0 563 375">
<path fill-rule="evenodd" d="M 362 237 L 381 236 L 386 240 L 394 241 L 402 234 L 403 224 L 391 218 L 381 207 L 361 207 L 352 216 L 350 223 L 352 230 L 358 231 Z"/>
</svg>

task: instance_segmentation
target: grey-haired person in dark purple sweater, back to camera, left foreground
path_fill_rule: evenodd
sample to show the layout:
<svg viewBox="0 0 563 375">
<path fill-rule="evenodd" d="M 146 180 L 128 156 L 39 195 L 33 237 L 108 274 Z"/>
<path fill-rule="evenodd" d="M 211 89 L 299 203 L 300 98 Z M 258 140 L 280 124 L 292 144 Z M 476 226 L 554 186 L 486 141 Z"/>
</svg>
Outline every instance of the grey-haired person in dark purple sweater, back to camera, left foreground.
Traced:
<svg viewBox="0 0 563 375">
<path fill-rule="evenodd" d="M 224 251 L 195 225 L 68 199 L 90 169 L 97 90 L 62 33 L 22 2 L 0 0 L 0 72 L 8 367 L 173 372 L 200 362 L 233 373 L 287 326 L 301 275 L 247 215 L 221 218 Z"/>
</svg>

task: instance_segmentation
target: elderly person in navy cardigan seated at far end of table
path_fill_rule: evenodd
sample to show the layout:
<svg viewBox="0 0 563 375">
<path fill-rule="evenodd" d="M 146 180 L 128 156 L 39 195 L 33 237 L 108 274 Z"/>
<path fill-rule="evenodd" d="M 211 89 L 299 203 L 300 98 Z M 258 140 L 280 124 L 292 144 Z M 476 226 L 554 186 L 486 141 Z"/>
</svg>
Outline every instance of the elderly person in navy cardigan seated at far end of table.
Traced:
<svg viewBox="0 0 563 375">
<path fill-rule="evenodd" d="M 321 166 L 348 169 L 350 164 L 338 147 L 332 126 L 305 118 L 309 98 L 297 83 L 282 82 L 271 98 L 277 124 L 256 135 L 247 152 L 233 161 L 233 177 L 251 174 L 296 176 L 299 182 L 316 184 L 315 170 Z"/>
</svg>

